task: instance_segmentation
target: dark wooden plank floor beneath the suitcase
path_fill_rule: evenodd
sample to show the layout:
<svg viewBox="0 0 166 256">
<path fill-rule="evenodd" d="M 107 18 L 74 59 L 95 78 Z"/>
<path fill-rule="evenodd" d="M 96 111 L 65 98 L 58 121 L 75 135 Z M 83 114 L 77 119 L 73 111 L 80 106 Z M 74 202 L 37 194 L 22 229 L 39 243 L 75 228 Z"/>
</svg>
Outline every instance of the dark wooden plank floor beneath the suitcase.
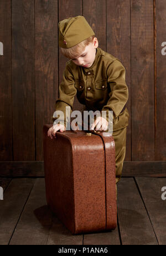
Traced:
<svg viewBox="0 0 166 256">
<path fill-rule="evenodd" d="M 46 206 L 44 178 L 0 178 L 0 244 L 166 244 L 166 178 L 122 178 L 118 226 L 111 232 L 71 235 Z"/>
</svg>

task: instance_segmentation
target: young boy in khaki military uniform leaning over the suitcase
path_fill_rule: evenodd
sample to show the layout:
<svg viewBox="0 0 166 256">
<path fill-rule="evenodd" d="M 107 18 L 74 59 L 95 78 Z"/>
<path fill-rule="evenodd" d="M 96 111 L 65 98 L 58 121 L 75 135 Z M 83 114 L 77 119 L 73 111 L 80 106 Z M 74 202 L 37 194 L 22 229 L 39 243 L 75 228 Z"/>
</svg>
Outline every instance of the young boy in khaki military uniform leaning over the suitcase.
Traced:
<svg viewBox="0 0 166 256">
<path fill-rule="evenodd" d="M 94 31 L 84 16 L 64 19 L 59 22 L 59 46 L 66 62 L 63 80 L 59 86 L 59 99 L 55 110 L 64 112 L 64 122 L 59 121 L 49 129 L 53 139 L 56 131 L 66 130 L 66 107 L 72 111 L 74 96 L 87 111 L 113 111 L 113 138 L 116 149 L 116 183 L 122 174 L 126 152 L 126 129 L 128 125 L 128 88 L 125 82 L 125 68 L 120 60 L 98 48 Z M 64 124 L 64 125 L 63 125 Z M 108 116 L 97 117 L 93 130 L 107 130 Z"/>
</svg>

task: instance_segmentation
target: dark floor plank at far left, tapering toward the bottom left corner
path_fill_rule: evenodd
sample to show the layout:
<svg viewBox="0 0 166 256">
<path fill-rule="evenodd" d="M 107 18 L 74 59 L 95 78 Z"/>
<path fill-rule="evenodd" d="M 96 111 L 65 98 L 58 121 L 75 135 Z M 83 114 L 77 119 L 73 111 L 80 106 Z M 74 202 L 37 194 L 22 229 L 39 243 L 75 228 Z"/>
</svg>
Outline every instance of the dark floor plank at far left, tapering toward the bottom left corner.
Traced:
<svg viewBox="0 0 166 256">
<path fill-rule="evenodd" d="M 33 183 L 33 179 L 13 179 L 5 191 L 0 210 L 1 245 L 9 243 Z"/>
</svg>

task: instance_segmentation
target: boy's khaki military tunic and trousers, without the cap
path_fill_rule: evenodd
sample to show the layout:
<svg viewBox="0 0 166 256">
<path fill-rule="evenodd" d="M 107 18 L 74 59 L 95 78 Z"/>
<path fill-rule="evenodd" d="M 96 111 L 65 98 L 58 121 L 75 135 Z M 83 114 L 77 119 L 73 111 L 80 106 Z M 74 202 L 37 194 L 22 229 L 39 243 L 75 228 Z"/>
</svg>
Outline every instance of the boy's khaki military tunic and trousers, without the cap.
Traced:
<svg viewBox="0 0 166 256">
<path fill-rule="evenodd" d="M 86 110 L 113 111 L 118 182 L 125 159 L 126 127 L 129 117 L 125 106 L 128 100 L 128 87 L 125 82 L 125 68 L 120 60 L 98 47 L 95 61 L 89 68 L 77 66 L 71 60 L 66 62 L 55 110 L 61 110 L 65 115 L 65 107 L 70 106 L 72 111 L 75 95 L 79 102 L 85 105 Z"/>
</svg>

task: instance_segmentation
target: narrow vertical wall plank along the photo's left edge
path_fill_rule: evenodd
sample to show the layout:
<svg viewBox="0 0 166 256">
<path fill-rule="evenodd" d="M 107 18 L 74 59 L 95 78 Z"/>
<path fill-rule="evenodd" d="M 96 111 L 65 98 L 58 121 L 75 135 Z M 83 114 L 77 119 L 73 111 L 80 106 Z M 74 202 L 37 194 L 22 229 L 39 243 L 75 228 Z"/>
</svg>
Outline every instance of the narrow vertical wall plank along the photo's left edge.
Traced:
<svg viewBox="0 0 166 256">
<path fill-rule="evenodd" d="M 0 1 L 0 161 L 12 161 L 11 0 Z"/>
</svg>

